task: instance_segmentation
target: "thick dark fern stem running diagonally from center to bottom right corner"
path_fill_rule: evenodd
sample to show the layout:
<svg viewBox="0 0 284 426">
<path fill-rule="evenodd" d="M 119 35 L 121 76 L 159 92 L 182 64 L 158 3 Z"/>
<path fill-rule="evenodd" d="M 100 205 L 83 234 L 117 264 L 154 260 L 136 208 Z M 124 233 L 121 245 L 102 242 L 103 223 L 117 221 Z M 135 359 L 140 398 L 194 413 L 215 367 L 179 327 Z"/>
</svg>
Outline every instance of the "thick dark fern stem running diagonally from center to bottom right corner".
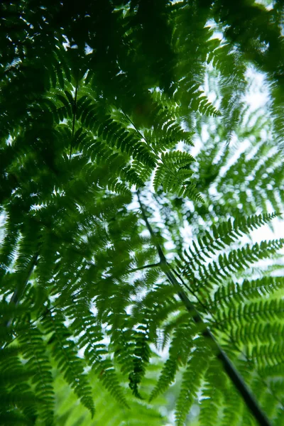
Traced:
<svg viewBox="0 0 284 426">
<path fill-rule="evenodd" d="M 261 407 L 258 405 L 258 401 L 254 397 L 254 395 L 251 393 L 248 386 L 246 386 L 246 383 L 244 382 L 244 379 L 241 377 L 239 371 L 237 371 L 236 367 L 232 362 L 230 361 L 229 357 L 226 355 L 222 347 L 219 345 L 217 340 L 215 339 L 212 332 L 207 329 L 206 324 L 202 320 L 202 317 L 200 316 L 200 313 L 197 311 L 195 305 L 190 301 L 190 299 L 187 297 L 184 290 L 182 290 L 182 287 L 180 283 L 178 282 L 177 278 L 175 278 L 175 275 L 170 269 L 170 266 L 168 265 L 165 255 L 163 253 L 163 249 L 161 248 L 160 244 L 158 244 L 157 239 L 155 237 L 155 233 L 153 229 L 151 228 L 150 223 L 148 222 L 148 218 L 146 216 L 146 211 L 143 207 L 143 204 L 141 202 L 141 199 L 139 197 L 139 193 L 137 193 L 138 196 L 138 202 L 140 204 L 141 208 L 141 214 L 143 217 L 144 222 L 146 223 L 146 227 L 153 238 L 153 242 L 155 244 L 155 247 L 158 251 L 158 256 L 160 258 L 160 267 L 163 270 L 163 273 L 167 276 L 170 283 L 173 284 L 173 286 L 176 288 L 178 296 L 180 297 L 180 300 L 182 300 L 183 304 L 185 305 L 186 309 L 190 314 L 192 315 L 192 319 L 197 324 L 203 325 L 203 332 L 202 335 L 209 339 L 209 342 L 211 342 L 211 346 L 213 351 L 215 352 L 217 358 L 222 362 L 222 365 L 224 367 L 224 371 L 228 374 L 229 378 L 231 379 L 232 383 L 234 383 L 234 386 L 236 389 L 238 389 L 239 393 L 241 393 L 241 396 L 244 399 L 244 403 L 246 403 L 246 406 L 251 410 L 251 413 L 253 414 L 253 417 L 257 420 L 258 424 L 261 426 L 271 426 L 271 423 L 269 422 L 268 418 L 266 417 L 266 414 L 263 413 L 263 410 L 261 410 Z"/>
</svg>

